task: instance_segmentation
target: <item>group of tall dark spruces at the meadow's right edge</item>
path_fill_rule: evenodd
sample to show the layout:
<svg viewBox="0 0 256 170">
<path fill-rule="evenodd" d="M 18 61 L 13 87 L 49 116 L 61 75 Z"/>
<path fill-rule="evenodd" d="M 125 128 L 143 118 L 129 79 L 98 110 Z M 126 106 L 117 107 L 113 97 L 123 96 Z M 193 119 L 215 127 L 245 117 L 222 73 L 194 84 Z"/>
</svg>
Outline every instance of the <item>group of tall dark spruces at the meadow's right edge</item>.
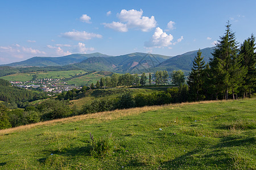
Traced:
<svg viewBox="0 0 256 170">
<path fill-rule="evenodd" d="M 238 99 L 255 92 L 255 37 L 252 34 L 239 48 L 230 26 L 228 22 L 209 63 L 200 49 L 197 52 L 187 82 L 190 100 Z"/>
</svg>

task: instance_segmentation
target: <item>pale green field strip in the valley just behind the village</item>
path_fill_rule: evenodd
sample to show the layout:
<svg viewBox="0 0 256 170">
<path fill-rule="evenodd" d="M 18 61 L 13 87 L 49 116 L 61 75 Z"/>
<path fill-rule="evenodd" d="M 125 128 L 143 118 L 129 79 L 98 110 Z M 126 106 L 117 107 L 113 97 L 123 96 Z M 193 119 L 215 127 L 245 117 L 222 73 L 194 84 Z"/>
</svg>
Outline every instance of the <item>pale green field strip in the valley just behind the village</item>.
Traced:
<svg viewBox="0 0 256 170">
<path fill-rule="evenodd" d="M 63 78 L 70 78 L 71 75 L 74 76 L 76 74 L 84 74 L 86 71 L 83 70 L 70 70 L 70 71 L 39 71 L 33 73 L 17 73 L 2 76 L 2 79 L 9 80 L 9 81 L 18 81 L 18 82 L 26 82 L 31 80 L 33 77 L 32 75 L 38 75 L 37 79 L 63 79 Z"/>
</svg>

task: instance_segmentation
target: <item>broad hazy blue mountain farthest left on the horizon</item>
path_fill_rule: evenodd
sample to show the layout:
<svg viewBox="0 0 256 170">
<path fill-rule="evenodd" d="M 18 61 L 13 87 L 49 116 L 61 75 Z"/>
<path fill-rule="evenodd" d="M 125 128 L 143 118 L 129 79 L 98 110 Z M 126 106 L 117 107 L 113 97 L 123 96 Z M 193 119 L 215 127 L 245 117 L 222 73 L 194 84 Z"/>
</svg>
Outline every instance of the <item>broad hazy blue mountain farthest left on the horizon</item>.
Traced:
<svg viewBox="0 0 256 170">
<path fill-rule="evenodd" d="M 64 66 L 72 63 L 79 63 L 89 57 L 110 57 L 101 53 L 92 54 L 71 54 L 63 57 L 32 57 L 25 61 L 14 62 L 0 66 L 11 66 L 11 67 L 47 67 L 47 66 Z"/>
</svg>

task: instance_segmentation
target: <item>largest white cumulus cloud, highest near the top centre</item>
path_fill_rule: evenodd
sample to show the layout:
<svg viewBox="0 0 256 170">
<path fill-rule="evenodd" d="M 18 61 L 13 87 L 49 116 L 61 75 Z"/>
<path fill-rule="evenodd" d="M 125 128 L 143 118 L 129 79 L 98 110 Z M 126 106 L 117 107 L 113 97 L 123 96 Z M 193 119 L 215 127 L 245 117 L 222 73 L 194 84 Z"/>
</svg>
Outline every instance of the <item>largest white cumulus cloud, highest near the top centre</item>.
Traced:
<svg viewBox="0 0 256 170">
<path fill-rule="evenodd" d="M 151 16 L 151 18 L 149 18 L 148 16 L 142 16 L 142 14 L 142 10 L 122 10 L 117 14 L 120 22 L 104 23 L 104 25 L 105 27 L 112 28 L 115 31 L 120 32 L 127 32 L 130 28 L 137 28 L 141 29 L 141 31 L 147 32 L 151 28 L 155 28 L 155 17 Z"/>
</svg>

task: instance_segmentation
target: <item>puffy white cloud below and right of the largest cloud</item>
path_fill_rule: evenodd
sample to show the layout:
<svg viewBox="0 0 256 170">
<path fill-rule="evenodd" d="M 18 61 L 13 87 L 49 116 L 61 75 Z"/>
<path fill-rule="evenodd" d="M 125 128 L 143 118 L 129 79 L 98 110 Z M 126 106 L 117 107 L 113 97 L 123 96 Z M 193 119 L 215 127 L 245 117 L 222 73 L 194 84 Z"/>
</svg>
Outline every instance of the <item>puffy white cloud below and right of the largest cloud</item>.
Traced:
<svg viewBox="0 0 256 170">
<path fill-rule="evenodd" d="M 146 47 L 162 48 L 164 46 L 172 45 L 172 40 L 174 37 L 170 34 L 167 35 L 166 32 L 163 32 L 163 29 L 157 27 L 155 33 L 152 36 L 150 41 L 144 43 Z"/>
</svg>

